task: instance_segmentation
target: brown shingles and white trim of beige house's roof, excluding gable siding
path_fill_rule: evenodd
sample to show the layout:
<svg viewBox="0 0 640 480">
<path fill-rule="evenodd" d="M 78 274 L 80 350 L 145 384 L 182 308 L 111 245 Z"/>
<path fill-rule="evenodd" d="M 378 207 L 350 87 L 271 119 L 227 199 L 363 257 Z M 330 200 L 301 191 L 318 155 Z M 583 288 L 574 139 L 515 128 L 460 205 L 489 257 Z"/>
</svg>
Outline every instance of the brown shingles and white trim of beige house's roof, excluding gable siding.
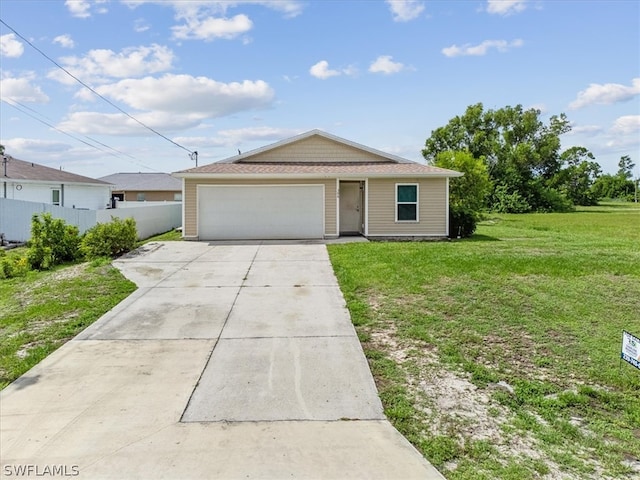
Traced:
<svg viewBox="0 0 640 480">
<path fill-rule="evenodd" d="M 375 161 L 348 161 L 340 162 L 335 159 L 327 161 L 315 162 L 265 162 L 251 161 L 252 157 L 275 150 L 277 148 L 305 140 L 307 138 L 319 136 L 347 147 L 355 148 L 363 152 L 369 153 L 375 157 Z M 461 176 L 460 172 L 447 170 L 444 168 L 424 165 L 406 158 L 398 157 L 390 153 L 382 152 L 374 148 L 361 145 L 344 138 L 331 135 L 321 130 L 311 130 L 309 132 L 297 135 L 279 142 L 241 153 L 233 157 L 221 160 L 219 162 L 210 163 L 201 167 L 190 168 L 175 172 L 176 177 L 205 177 L 210 175 L 216 176 L 440 176 L 440 177 L 457 177 Z"/>
</svg>

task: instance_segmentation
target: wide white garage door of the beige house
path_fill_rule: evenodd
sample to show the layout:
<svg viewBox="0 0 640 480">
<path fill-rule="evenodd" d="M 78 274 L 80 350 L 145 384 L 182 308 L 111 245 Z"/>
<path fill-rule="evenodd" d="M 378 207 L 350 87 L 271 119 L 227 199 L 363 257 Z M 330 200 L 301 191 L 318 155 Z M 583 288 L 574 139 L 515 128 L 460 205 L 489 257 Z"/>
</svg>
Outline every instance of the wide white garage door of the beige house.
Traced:
<svg viewBox="0 0 640 480">
<path fill-rule="evenodd" d="M 201 240 L 322 238 L 324 185 L 201 185 Z"/>
</svg>

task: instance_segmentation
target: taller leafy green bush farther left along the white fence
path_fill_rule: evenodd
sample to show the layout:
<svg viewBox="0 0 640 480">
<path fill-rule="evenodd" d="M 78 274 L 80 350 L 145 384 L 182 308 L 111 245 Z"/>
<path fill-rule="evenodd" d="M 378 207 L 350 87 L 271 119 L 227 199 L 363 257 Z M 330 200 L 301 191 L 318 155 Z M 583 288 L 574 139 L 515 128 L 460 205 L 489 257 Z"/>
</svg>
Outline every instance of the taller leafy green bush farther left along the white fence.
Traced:
<svg viewBox="0 0 640 480">
<path fill-rule="evenodd" d="M 79 258 L 80 236 L 78 227 L 53 218 L 50 213 L 31 217 L 31 239 L 27 261 L 34 270 L 48 270 L 64 262 Z"/>
</svg>

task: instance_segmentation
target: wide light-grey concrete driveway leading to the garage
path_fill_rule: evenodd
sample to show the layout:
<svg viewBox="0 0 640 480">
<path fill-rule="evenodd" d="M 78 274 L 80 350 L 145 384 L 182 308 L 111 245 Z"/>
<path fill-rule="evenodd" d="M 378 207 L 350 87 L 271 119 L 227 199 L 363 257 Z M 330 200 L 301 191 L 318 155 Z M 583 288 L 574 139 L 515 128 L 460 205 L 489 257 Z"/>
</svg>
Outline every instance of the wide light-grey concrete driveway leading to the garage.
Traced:
<svg viewBox="0 0 640 480">
<path fill-rule="evenodd" d="M 324 245 L 115 264 L 138 290 L 0 393 L 0 475 L 443 478 L 385 419 Z"/>
</svg>

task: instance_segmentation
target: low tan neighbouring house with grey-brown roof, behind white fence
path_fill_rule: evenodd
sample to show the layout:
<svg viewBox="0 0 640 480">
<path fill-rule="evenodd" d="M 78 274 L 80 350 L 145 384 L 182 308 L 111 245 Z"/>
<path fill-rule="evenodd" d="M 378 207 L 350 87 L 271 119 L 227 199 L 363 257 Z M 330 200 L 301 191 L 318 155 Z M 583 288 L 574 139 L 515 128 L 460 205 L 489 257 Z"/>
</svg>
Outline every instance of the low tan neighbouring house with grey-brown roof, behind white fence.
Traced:
<svg viewBox="0 0 640 480">
<path fill-rule="evenodd" d="M 112 198 L 127 202 L 182 200 L 182 182 L 168 173 L 114 173 L 100 180 L 113 183 Z"/>
</svg>

